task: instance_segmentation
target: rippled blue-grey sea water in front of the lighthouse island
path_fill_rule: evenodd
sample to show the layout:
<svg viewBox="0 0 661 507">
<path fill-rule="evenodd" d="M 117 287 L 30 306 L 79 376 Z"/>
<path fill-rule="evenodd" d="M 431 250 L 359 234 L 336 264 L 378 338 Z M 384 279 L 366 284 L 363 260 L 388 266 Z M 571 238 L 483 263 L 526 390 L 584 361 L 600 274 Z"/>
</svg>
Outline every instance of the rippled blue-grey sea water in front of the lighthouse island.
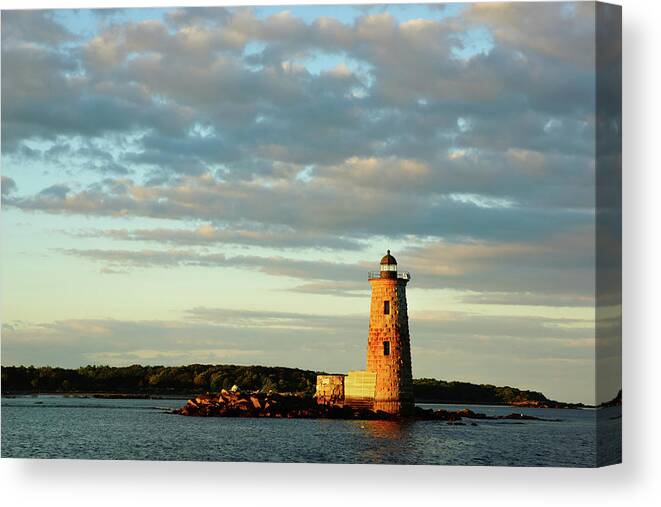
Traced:
<svg viewBox="0 0 661 507">
<path fill-rule="evenodd" d="M 549 421 L 340 421 L 197 418 L 167 413 L 185 400 L 29 396 L 2 399 L 3 458 L 77 458 L 439 465 L 594 466 L 595 411 L 471 405 L 489 415 Z M 620 408 L 602 411 L 603 454 L 617 461 Z"/>
</svg>

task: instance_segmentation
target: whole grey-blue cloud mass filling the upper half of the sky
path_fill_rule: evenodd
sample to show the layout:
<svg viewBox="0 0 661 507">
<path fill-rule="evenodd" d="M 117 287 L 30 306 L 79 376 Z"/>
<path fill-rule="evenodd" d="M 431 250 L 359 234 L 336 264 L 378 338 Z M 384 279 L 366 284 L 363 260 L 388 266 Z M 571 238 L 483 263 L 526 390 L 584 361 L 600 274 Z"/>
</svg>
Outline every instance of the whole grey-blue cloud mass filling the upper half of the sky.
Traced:
<svg viewBox="0 0 661 507">
<path fill-rule="evenodd" d="M 241 244 L 252 230 L 290 231 L 283 246 L 298 236 L 349 249 L 374 235 L 514 240 L 585 225 L 592 18 L 553 5 L 542 22 L 538 7 L 404 22 L 368 11 L 345 23 L 181 9 L 103 24 L 63 48 L 3 46 L 8 165 L 37 157 L 119 176 L 10 204 L 211 222 L 218 240 Z M 475 28 L 493 47 L 457 58 Z M 326 59 L 339 63 L 314 68 Z M 259 241 L 277 246 L 269 234 Z"/>
</svg>

